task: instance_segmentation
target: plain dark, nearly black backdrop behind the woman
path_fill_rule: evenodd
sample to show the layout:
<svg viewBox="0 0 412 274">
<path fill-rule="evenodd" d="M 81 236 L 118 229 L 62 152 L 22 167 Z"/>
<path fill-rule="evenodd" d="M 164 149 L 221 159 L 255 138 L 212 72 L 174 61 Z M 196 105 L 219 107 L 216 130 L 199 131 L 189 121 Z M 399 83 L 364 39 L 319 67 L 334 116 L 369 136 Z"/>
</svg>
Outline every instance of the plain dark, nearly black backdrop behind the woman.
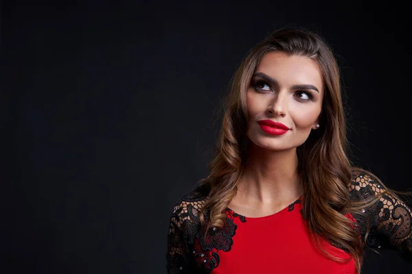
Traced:
<svg viewBox="0 0 412 274">
<path fill-rule="evenodd" d="M 169 214 L 207 175 L 229 80 L 285 25 L 316 30 L 334 49 L 356 164 L 410 190 L 402 8 L 26 2 L 1 10 L 2 273 L 165 273 Z M 412 266 L 395 251 L 368 252 L 363 270 Z"/>
</svg>

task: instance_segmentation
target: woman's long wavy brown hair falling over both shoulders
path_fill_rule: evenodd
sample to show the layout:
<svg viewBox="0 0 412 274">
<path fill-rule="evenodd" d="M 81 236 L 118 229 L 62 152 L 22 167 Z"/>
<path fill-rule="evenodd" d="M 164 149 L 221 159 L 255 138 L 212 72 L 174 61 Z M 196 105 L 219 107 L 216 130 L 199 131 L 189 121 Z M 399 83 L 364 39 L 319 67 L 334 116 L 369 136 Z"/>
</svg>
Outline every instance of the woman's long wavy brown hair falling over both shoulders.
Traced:
<svg viewBox="0 0 412 274">
<path fill-rule="evenodd" d="M 320 238 L 327 238 L 350 253 L 360 273 L 363 244 L 351 226 L 352 221 L 344 214 L 362 214 L 363 208 L 373 206 L 382 195 L 363 202 L 349 199 L 348 186 L 353 168 L 347 157 L 349 147 L 339 66 L 325 40 L 308 29 L 285 27 L 272 32 L 247 53 L 231 79 L 231 88 L 223 104 L 224 115 L 216 155 L 209 163 L 209 175 L 200 182 L 210 189 L 207 202 L 201 209 L 201 223 L 207 225 L 206 231 L 210 227 L 225 225 L 225 211 L 236 195 L 237 182 L 247 160 L 250 141 L 246 136 L 247 88 L 260 60 L 269 51 L 306 56 L 317 62 L 321 69 L 325 86 L 319 117 L 322 126 L 312 131 L 306 142 L 297 148 L 298 174 L 303 186 L 302 213 L 308 221 L 312 240 L 325 256 L 336 262 L 347 261 L 326 252 L 320 245 Z M 369 174 L 380 182 L 376 176 Z M 389 188 L 386 189 L 389 191 Z M 207 223 L 203 218 L 206 210 L 209 212 Z"/>
</svg>

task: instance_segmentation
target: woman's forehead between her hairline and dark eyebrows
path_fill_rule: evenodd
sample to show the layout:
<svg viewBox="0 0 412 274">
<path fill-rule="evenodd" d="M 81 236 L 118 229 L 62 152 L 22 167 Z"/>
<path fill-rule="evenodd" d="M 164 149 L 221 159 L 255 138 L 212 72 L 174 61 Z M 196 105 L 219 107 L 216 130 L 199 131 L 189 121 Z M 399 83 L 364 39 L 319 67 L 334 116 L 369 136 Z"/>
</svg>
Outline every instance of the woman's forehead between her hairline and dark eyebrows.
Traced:
<svg viewBox="0 0 412 274">
<path fill-rule="evenodd" d="M 301 55 L 288 55 L 282 51 L 266 53 L 255 72 L 262 72 L 276 79 L 279 84 L 312 84 L 323 90 L 323 77 L 314 60 Z"/>
</svg>

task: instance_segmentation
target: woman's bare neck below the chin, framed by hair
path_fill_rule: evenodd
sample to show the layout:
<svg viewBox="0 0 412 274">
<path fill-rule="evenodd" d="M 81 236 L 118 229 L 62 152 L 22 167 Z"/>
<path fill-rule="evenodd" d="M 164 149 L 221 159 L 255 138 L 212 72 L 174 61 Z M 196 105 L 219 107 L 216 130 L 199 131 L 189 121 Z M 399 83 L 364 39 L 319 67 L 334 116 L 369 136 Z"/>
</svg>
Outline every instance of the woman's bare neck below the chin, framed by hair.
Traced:
<svg viewBox="0 0 412 274">
<path fill-rule="evenodd" d="M 296 148 L 270 151 L 251 142 L 236 196 L 244 203 L 277 205 L 301 196 Z"/>
</svg>

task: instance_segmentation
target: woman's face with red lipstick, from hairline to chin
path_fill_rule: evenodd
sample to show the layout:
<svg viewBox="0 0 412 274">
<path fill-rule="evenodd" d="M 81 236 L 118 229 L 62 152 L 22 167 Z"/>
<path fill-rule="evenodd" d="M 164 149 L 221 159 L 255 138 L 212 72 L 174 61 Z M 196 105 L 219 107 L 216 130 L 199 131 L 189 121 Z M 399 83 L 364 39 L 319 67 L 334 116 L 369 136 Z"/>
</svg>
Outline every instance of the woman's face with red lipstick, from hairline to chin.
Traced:
<svg viewBox="0 0 412 274">
<path fill-rule="evenodd" d="M 247 136 L 255 145 L 274 151 L 299 147 L 317 129 L 322 99 L 323 79 L 314 60 L 266 53 L 247 89 Z"/>
</svg>

